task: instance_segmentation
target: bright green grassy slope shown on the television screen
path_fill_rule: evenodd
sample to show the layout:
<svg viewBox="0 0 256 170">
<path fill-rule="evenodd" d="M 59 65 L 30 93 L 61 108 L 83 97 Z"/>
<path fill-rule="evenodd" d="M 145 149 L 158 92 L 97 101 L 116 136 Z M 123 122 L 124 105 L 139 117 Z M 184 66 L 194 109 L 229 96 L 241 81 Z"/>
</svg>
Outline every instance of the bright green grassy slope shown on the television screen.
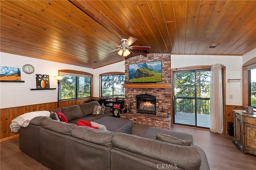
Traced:
<svg viewBox="0 0 256 170">
<path fill-rule="evenodd" d="M 161 82 L 162 81 L 161 73 L 150 71 L 147 68 L 138 68 L 138 70 L 142 72 L 147 72 L 151 76 L 132 78 L 131 80 L 129 80 L 129 82 Z"/>
</svg>

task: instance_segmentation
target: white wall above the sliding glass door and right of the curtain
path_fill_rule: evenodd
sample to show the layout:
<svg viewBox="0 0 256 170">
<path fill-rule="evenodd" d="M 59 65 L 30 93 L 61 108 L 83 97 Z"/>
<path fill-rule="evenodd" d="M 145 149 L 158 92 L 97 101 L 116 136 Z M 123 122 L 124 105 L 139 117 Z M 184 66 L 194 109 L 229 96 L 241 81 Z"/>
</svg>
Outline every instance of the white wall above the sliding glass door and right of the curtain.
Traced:
<svg viewBox="0 0 256 170">
<path fill-rule="evenodd" d="M 226 104 L 242 105 L 242 56 L 218 55 L 171 55 L 171 68 L 224 64 L 226 66 Z M 228 79 L 241 82 L 228 83 Z M 229 96 L 233 95 L 233 99 Z"/>
</svg>

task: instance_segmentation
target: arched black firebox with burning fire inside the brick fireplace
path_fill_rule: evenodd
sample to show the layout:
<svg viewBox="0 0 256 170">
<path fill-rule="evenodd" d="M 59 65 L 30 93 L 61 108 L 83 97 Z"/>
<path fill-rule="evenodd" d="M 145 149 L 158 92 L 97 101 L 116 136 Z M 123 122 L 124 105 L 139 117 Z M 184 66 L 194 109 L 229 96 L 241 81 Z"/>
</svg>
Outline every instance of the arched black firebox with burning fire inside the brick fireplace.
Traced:
<svg viewBox="0 0 256 170">
<path fill-rule="evenodd" d="M 156 97 L 149 94 L 139 94 L 137 98 L 137 112 L 156 114 Z"/>
</svg>

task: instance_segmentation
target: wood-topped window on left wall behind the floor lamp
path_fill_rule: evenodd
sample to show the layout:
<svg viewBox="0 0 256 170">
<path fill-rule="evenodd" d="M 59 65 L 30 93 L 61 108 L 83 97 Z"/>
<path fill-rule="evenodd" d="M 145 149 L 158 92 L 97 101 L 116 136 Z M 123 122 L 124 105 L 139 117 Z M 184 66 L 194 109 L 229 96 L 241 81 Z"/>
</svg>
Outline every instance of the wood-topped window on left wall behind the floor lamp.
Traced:
<svg viewBox="0 0 256 170">
<path fill-rule="evenodd" d="M 91 97 L 92 74 L 74 70 L 65 70 L 65 72 L 59 70 L 59 75 L 64 76 L 60 81 L 60 100 Z"/>
</svg>

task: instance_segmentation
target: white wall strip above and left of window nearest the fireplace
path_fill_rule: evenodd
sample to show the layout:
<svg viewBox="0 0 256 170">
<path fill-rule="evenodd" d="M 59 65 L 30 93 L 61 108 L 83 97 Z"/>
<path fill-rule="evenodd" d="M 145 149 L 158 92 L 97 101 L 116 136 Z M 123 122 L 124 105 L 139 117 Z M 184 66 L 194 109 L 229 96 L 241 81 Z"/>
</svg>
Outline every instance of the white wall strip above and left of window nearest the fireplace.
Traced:
<svg viewBox="0 0 256 170">
<path fill-rule="evenodd" d="M 93 72 L 94 74 L 93 75 L 93 79 L 94 79 L 93 96 L 94 97 L 100 97 L 100 74 L 105 72 L 125 72 L 124 61 L 94 69 L 94 72 Z"/>
</svg>

